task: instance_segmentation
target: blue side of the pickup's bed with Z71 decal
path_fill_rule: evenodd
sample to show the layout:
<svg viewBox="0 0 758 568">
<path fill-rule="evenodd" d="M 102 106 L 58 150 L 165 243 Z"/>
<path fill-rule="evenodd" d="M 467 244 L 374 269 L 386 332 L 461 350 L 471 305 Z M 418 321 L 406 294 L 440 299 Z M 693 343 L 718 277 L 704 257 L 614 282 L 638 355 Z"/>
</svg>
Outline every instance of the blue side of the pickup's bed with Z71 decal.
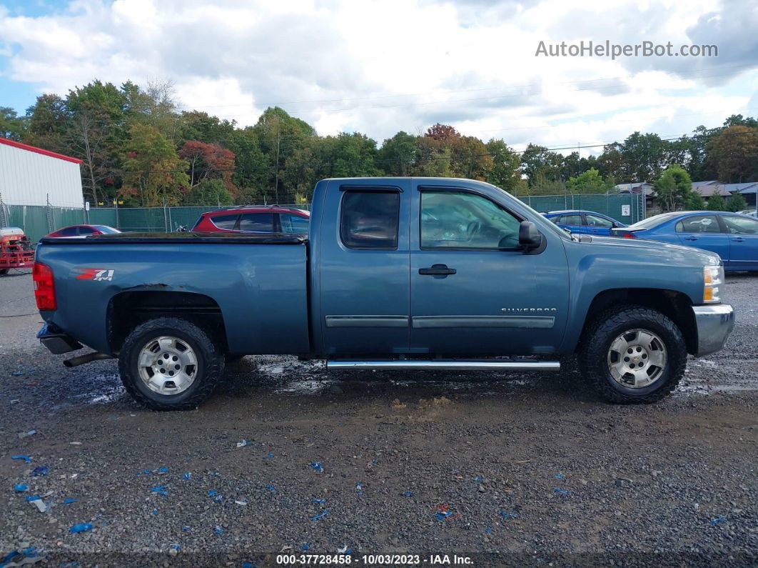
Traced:
<svg viewBox="0 0 758 568">
<path fill-rule="evenodd" d="M 145 309 L 149 295 L 151 310 L 181 310 L 188 301 L 221 312 L 231 353 L 308 353 L 306 242 L 302 235 L 189 232 L 45 238 L 37 259 L 52 268 L 58 309 L 42 316 L 113 353 L 111 315 Z"/>
</svg>

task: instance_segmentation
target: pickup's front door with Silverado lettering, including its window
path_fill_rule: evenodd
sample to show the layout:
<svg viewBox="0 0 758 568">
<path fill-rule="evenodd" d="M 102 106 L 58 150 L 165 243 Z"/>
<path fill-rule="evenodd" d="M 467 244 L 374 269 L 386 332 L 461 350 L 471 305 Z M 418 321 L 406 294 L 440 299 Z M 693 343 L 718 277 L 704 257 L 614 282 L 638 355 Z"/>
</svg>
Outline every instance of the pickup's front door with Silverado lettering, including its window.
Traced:
<svg viewBox="0 0 758 568">
<path fill-rule="evenodd" d="M 499 190 L 414 183 L 411 350 L 553 353 L 568 311 L 560 237 L 543 231 L 544 248 L 525 253 L 518 248 L 525 219 Z"/>
</svg>

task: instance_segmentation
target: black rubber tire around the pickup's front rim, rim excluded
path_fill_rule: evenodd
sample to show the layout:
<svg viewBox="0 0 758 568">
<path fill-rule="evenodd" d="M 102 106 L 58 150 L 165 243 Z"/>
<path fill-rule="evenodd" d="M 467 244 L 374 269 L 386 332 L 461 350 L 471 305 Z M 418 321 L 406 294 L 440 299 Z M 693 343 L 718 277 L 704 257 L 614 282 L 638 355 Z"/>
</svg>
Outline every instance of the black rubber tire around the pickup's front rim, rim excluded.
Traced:
<svg viewBox="0 0 758 568">
<path fill-rule="evenodd" d="M 626 387 L 609 371 L 612 342 L 625 331 L 652 331 L 666 347 L 666 366 L 659 378 L 644 388 Z M 661 400 L 679 384 L 687 364 L 687 346 L 677 325 L 655 309 L 616 306 L 601 313 L 584 331 L 578 349 L 581 374 L 605 400 L 619 404 L 647 404 Z"/>
</svg>

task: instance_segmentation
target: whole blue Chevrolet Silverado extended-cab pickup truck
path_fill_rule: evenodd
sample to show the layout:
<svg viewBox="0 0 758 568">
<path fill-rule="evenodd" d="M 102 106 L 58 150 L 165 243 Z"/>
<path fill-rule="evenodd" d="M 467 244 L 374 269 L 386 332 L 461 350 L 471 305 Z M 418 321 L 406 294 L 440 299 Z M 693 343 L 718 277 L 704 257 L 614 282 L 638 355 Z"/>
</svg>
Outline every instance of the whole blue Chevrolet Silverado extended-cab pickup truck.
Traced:
<svg viewBox="0 0 758 568">
<path fill-rule="evenodd" d="M 33 281 L 52 353 L 117 357 L 127 391 L 190 409 L 246 354 L 327 369 L 558 371 L 614 403 L 669 394 L 734 325 L 713 253 L 572 237 L 474 180 L 321 180 L 309 235 L 42 239 Z M 570 360 L 570 359 L 569 359 Z"/>
</svg>

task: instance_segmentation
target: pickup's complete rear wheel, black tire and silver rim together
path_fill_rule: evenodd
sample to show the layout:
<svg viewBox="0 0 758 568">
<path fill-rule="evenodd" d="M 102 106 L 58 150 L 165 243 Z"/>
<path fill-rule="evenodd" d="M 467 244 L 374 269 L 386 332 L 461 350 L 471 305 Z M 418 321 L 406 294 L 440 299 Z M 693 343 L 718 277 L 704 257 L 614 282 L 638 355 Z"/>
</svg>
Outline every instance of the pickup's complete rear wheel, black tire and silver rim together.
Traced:
<svg viewBox="0 0 758 568">
<path fill-rule="evenodd" d="M 197 325 L 156 318 L 138 325 L 118 355 L 124 388 L 152 410 L 190 410 L 224 373 L 224 354 Z"/>
</svg>

